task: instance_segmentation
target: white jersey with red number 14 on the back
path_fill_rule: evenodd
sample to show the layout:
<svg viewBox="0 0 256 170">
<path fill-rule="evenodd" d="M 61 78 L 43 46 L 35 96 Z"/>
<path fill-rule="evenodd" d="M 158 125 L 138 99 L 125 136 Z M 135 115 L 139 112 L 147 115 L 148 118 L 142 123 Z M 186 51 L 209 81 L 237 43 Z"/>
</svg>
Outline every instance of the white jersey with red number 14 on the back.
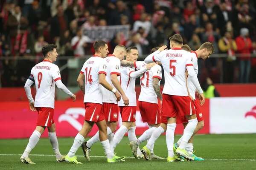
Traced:
<svg viewBox="0 0 256 170">
<path fill-rule="evenodd" d="M 99 89 L 99 74 L 107 75 L 106 60 L 97 55 L 93 55 L 84 62 L 80 71 L 85 77 L 84 103 L 102 104 L 102 92 Z"/>
</svg>

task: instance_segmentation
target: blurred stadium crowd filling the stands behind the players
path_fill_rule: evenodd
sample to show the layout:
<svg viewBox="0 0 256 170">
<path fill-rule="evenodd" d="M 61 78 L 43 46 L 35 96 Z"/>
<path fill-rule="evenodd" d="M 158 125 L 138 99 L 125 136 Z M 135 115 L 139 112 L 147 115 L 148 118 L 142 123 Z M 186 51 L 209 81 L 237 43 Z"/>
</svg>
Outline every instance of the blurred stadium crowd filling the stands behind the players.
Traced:
<svg viewBox="0 0 256 170">
<path fill-rule="evenodd" d="M 226 54 L 198 60 L 201 82 L 207 77 L 214 83 L 255 82 L 256 58 L 250 56 L 256 55 L 255 22 L 253 0 L 2 0 L 0 59 L 36 59 L 2 58 L 1 85 L 23 86 L 47 43 L 58 45 L 60 56 L 90 55 L 93 42 L 82 28 L 115 25 L 130 25 L 130 36 L 125 40 L 122 33 L 116 34 L 108 42 L 110 53 L 122 44 L 146 55 L 155 46 L 168 45 L 168 37 L 181 34 L 192 50 L 210 41 L 215 54 Z"/>
</svg>

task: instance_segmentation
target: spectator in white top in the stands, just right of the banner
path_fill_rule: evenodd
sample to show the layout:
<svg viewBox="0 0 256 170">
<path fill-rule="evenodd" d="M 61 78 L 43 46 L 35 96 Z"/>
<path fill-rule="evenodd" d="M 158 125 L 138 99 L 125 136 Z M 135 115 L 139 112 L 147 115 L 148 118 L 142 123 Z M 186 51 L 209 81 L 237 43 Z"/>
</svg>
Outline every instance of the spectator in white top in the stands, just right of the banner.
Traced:
<svg viewBox="0 0 256 170">
<path fill-rule="evenodd" d="M 146 13 L 141 14 L 140 20 L 135 21 L 134 27 L 133 27 L 134 32 L 138 31 L 138 29 L 140 27 L 144 28 L 145 36 L 143 36 L 143 37 L 146 37 L 148 35 L 150 28 L 151 28 L 150 21 L 146 20 L 147 17 L 148 17 L 148 14 L 146 14 Z"/>
</svg>

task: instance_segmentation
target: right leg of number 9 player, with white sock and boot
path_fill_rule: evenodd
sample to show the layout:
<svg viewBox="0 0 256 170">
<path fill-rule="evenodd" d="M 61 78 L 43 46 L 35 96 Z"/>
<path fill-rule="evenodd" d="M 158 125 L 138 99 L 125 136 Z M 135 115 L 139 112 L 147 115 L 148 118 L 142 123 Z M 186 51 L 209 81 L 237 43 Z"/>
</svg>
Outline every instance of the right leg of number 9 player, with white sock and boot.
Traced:
<svg viewBox="0 0 256 170">
<path fill-rule="evenodd" d="M 56 161 L 57 162 L 65 161 L 65 156 L 61 155 L 59 148 L 58 148 L 58 139 L 57 139 L 56 132 L 55 132 L 56 131 L 55 123 L 53 123 L 50 127 L 47 127 L 47 128 L 48 128 L 49 140 L 52 144 L 52 149 L 56 156 Z"/>
</svg>

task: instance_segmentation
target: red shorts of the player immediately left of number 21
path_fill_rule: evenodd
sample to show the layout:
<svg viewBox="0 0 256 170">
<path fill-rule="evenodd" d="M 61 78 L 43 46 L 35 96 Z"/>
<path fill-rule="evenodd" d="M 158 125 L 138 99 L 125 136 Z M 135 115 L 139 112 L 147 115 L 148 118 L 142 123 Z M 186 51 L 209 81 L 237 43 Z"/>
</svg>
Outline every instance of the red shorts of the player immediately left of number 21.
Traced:
<svg viewBox="0 0 256 170">
<path fill-rule="evenodd" d="M 119 106 L 122 122 L 135 122 L 136 106 Z"/>
</svg>

